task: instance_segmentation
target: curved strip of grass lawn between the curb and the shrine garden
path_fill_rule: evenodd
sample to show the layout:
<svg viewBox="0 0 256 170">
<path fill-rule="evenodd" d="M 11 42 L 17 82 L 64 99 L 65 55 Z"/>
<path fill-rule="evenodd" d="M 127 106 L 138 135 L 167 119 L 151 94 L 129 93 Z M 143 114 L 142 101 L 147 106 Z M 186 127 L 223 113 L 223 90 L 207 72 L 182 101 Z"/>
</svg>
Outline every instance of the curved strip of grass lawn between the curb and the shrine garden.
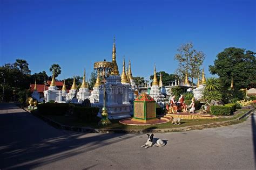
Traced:
<svg viewBox="0 0 256 170">
<path fill-rule="evenodd" d="M 111 120 L 112 124 L 109 126 L 100 126 L 98 125 L 98 119 L 97 122 L 83 122 L 81 120 L 78 120 L 76 117 L 73 116 L 56 116 L 56 115 L 43 115 L 44 117 L 50 118 L 55 122 L 58 122 L 63 125 L 69 125 L 69 126 L 79 126 L 79 127 L 91 127 L 96 129 L 122 129 L 122 130 L 144 130 L 144 129 L 169 129 L 169 128 L 179 128 L 179 127 L 185 127 L 185 126 L 192 126 L 192 125 L 203 125 L 203 124 L 209 124 L 209 123 L 216 123 L 216 122 L 224 122 L 224 121 L 231 121 L 233 119 L 236 119 L 240 116 L 242 116 L 245 112 L 247 112 L 250 109 L 238 109 L 239 114 L 234 115 L 233 117 L 225 117 L 225 118 L 217 118 L 217 119 L 197 119 L 197 120 L 185 120 L 181 119 L 180 125 L 173 125 L 171 122 L 167 122 L 164 124 L 158 124 L 158 125 L 147 125 L 147 126 L 131 126 L 131 125 L 123 125 L 118 122 L 118 120 Z M 244 121 L 244 120 L 242 120 Z M 229 124 L 235 124 L 240 123 L 242 121 L 235 121 Z"/>
</svg>

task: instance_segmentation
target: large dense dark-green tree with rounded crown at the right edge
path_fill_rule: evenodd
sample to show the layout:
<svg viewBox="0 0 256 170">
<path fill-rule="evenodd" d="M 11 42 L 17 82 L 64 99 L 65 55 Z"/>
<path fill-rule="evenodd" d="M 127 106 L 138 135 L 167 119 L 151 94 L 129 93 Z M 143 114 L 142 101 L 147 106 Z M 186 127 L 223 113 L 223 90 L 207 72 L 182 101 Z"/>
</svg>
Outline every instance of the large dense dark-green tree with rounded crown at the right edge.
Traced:
<svg viewBox="0 0 256 170">
<path fill-rule="evenodd" d="M 227 89 L 233 77 L 234 88 L 256 87 L 256 59 L 252 51 L 243 48 L 225 48 L 217 55 L 213 66 L 209 66 L 211 74 L 217 74 Z"/>
</svg>

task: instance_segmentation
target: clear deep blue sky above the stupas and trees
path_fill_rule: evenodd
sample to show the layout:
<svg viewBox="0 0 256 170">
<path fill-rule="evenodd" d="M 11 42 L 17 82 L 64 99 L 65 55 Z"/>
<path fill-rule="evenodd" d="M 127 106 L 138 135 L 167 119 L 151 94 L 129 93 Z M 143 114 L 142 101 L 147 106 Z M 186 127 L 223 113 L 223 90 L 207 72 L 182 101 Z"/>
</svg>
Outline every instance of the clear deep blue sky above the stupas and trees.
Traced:
<svg viewBox="0 0 256 170">
<path fill-rule="evenodd" d="M 53 63 L 58 79 L 86 75 L 93 63 L 131 59 L 133 76 L 174 73 L 177 48 L 193 42 L 206 54 L 204 68 L 227 47 L 256 52 L 255 1 L 7 1 L 0 0 L 0 64 L 25 59 L 32 73 Z"/>
</svg>

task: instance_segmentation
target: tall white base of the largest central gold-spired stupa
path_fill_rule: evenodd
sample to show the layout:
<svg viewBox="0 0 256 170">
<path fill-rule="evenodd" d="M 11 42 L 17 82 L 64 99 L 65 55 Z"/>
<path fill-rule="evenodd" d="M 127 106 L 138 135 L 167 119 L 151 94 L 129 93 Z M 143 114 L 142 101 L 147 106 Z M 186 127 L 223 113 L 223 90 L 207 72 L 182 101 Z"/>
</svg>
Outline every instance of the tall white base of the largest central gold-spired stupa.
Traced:
<svg viewBox="0 0 256 170">
<path fill-rule="evenodd" d="M 130 84 L 122 84 L 121 77 L 118 75 L 110 75 L 106 79 L 106 109 L 109 119 L 121 119 L 131 117 L 129 88 Z M 103 108 L 103 86 L 99 88 L 99 104 L 100 111 Z"/>
</svg>

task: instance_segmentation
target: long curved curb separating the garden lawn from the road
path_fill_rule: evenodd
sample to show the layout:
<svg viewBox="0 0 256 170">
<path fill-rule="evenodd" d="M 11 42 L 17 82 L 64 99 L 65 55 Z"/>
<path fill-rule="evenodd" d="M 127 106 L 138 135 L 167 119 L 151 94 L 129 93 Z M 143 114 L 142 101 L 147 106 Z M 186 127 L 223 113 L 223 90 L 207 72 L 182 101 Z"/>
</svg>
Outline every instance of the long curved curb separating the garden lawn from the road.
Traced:
<svg viewBox="0 0 256 170">
<path fill-rule="evenodd" d="M 25 111 L 30 112 L 30 110 L 25 109 Z M 207 129 L 207 128 L 217 128 L 220 126 L 226 126 L 227 123 L 232 123 L 235 121 L 239 121 L 242 118 L 248 117 L 251 115 L 251 112 L 254 109 L 251 109 L 247 111 L 244 115 L 242 115 L 239 118 L 233 119 L 231 121 L 224 121 L 224 122 L 215 122 L 215 123 L 209 123 L 209 124 L 203 124 L 203 125 L 193 125 L 193 126 L 186 126 L 186 127 L 180 127 L 180 128 L 170 128 L 170 129 L 144 129 L 144 130 L 123 130 L 123 129 L 93 129 L 90 127 L 78 127 L 78 126 L 68 126 L 68 125 L 62 125 L 58 122 L 52 121 L 49 118 L 46 118 L 39 114 L 32 114 L 33 116 L 42 119 L 44 122 L 50 124 L 51 126 L 57 128 L 57 129 L 64 129 L 64 130 L 70 130 L 75 132 L 85 132 L 85 133 L 132 133 L 132 134 L 143 134 L 143 133 L 166 133 L 166 132 L 179 132 L 179 131 L 190 131 L 190 130 L 201 130 L 201 129 Z M 30 112 L 31 113 L 31 112 Z"/>
</svg>

